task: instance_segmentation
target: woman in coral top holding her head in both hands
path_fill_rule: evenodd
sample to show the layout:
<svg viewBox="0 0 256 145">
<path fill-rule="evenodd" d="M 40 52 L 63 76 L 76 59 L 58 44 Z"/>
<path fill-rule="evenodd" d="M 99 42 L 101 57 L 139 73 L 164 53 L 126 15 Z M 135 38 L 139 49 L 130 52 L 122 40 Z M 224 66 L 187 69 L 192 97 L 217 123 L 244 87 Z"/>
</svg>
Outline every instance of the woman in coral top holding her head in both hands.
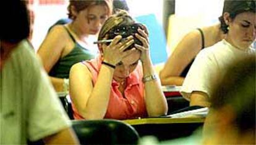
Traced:
<svg viewBox="0 0 256 145">
<path fill-rule="evenodd" d="M 100 43 L 106 39 L 113 41 Z M 98 40 L 100 55 L 70 70 L 74 118 L 123 120 L 166 114 L 166 99 L 150 60 L 147 28 L 120 10 L 106 20 Z"/>
</svg>

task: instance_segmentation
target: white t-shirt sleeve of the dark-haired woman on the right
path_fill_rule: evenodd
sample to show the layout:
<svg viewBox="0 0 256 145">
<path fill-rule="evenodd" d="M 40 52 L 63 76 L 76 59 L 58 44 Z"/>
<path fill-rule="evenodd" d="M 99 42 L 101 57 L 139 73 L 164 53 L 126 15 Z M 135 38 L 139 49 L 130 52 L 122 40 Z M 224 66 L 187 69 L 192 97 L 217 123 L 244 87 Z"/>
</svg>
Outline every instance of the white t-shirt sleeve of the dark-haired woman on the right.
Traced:
<svg viewBox="0 0 256 145">
<path fill-rule="evenodd" d="M 218 75 L 218 65 L 210 50 L 202 50 L 198 53 L 189 72 L 182 84 L 181 95 L 190 100 L 190 95 L 194 91 L 211 95 L 211 87 L 216 82 Z"/>
</svg>

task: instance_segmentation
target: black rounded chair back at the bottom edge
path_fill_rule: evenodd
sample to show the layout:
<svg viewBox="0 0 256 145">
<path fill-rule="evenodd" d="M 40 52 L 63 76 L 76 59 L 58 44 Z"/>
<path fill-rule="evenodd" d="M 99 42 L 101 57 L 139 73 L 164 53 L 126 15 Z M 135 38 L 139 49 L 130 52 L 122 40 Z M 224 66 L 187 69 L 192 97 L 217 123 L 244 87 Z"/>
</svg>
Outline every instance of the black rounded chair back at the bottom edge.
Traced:
<svg viewBox="0 0 256 145">
<path fill-rule="evenodd" d="M 139 134 L 119 120 L 72 120 L 81 144 L 137 144 Z"/>
</svg>

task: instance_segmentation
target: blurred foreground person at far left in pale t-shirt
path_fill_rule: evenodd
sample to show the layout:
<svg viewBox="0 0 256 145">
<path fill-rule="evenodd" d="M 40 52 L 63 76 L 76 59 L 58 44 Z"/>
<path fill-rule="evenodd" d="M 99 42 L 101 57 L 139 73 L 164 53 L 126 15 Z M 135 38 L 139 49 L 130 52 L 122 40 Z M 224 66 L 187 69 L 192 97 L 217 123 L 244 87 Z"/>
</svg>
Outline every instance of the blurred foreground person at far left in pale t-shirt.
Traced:
<svg viewBox="0 0 256 145">
<path fill-rule="evenodd" d="M 24 1 L 1 1 L 1 9 L 0 144 L 78 144 L 27 40 L 30 25 Z"/>
</svg>

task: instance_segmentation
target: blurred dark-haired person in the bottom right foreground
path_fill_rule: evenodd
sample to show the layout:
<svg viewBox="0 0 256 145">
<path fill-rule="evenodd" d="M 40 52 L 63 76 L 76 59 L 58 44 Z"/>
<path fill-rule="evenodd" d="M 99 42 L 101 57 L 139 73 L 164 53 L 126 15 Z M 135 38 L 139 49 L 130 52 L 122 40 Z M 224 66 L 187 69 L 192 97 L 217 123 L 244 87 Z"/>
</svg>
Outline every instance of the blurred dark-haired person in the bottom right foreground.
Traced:
<svg viewBox="0 0 256 145">
<path fill-rule="evenodd" d="M 203 128 L 169 141 L 147 136 L 139 144 L 255 144 L 255 58 L 251 55 L 227 66 L 228 73 L 213 87 Z"/>
</svg>

